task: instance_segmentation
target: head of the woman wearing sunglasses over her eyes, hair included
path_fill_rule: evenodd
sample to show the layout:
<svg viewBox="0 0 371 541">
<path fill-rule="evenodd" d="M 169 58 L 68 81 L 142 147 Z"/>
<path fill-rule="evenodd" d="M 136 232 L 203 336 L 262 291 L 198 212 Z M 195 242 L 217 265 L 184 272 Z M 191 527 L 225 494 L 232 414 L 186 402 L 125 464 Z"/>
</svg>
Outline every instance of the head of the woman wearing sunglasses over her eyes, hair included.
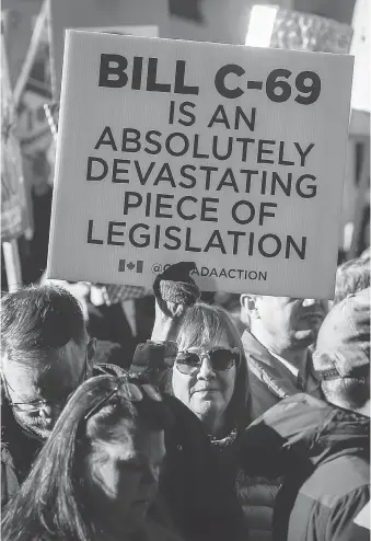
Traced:
<svg viewBox="0 0 371 541">
<path fill-rule="evenodd" d="M 177 334 L 173 394 L 206 424 L 230 430 L 246 419 L 247 376 L 234 322 L 202 302 L 187 311 Z"/>
</svg>

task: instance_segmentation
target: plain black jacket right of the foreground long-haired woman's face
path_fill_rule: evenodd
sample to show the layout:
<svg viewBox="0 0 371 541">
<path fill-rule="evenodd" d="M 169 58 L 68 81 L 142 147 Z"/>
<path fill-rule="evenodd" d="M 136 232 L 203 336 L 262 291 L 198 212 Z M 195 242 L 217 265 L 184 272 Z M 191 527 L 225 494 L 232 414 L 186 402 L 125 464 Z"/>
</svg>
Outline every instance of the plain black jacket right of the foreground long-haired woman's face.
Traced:
<svg viewBox="0 0 371 541">
<path fill-rule="evenodd" d="M 189 541 L 247 541 L 244 518 L 199 419 L 175 396 L 165 394 L 174 423 L 165 433 L 166 458 L 159 494 L 176 529 Z"/>
</svg>

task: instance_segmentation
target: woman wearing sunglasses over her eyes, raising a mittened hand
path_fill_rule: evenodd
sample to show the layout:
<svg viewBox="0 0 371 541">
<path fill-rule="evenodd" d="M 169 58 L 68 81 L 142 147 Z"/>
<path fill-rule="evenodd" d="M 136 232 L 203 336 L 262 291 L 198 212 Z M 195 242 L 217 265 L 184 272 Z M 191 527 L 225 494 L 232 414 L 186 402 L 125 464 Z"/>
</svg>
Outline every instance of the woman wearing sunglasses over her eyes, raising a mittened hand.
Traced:
<svg viewBox="0 0 371 541">
<path fill-rule="evenodd" d="M 216 459 L 215 475 L 236 493 L 250 538 L 270 541 L 278 483 L 251 477 L 239 458 L 241 436 L 250 424 L 251 393 L 240 334 L 222 308 L 198 301 L 200 292 L 188 276 L 192 266 L 172 265 L 155 279 L 152 341 L 138 346 L 132 369 L 144 369 L 198 417 Z M 179 491 L 171 480 L 166 492 L 172 506 Z M 182 517 L 176 520 L 181 523 Z"/>
</svg>

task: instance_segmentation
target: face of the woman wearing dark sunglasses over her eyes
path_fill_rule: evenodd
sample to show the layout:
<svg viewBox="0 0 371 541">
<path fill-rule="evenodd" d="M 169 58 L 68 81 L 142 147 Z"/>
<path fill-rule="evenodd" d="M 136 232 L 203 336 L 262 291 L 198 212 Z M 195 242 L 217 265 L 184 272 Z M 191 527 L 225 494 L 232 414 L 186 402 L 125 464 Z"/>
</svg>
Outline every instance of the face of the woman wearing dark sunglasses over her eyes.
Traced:
<svg viewBox="0 0 371 541">
<path fill-rule="evenodd" d="M 208 356 L 202 354 L 213 348 L 231 349 L 225 334 L 210 342 L 207 347 L 189 347 L 188 352 L 200 354 L 202 362 L 192 375 L 182 373 L 173 368 L 172 385 L 174 395 L 189 407 L 201 421 L 208 417 L 221 417 L 231 401 L 234 391 L 236 366 L 227 370 L 213 370 Z M 182 341 L 179 352 L 184 350 Z"/>
</svg>

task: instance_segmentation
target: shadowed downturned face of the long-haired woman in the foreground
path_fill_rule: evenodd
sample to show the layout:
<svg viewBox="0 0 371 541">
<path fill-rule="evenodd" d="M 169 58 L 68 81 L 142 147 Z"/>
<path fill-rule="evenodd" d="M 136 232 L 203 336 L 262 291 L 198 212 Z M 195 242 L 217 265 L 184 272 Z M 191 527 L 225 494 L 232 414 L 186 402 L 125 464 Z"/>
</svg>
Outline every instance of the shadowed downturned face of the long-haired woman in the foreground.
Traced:
<svg viewBox="0 0 371 541">
<path fill-rule="evenodd" d="M 119 429 L 120 440 L 94 445 L 86 484 L 100 522 L 131 531 L 143 526 L 154 499 L 165 454 L 164 433 L 138 429 L 128 421 Z"/>
</svg>

